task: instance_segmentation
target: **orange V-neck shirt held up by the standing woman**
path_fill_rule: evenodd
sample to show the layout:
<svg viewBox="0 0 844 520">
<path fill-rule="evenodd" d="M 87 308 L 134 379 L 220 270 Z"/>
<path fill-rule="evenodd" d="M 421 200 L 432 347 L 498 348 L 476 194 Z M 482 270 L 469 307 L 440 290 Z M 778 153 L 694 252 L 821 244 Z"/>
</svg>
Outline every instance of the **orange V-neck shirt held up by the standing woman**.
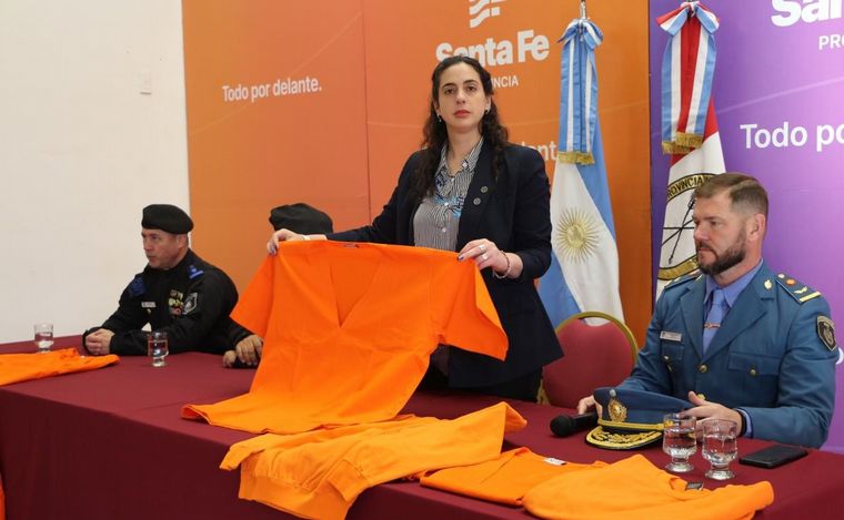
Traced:
<svg viewBox="0 0 844 520">
<path fill-rule="evenodd" d="M 255 434 L 391 419 L 438 344 L 506 355 L 474 264 L 422 247 L 283 243 L 232 318 L 264 337 L 249 394 L 182 417 Z"/>
</svg>

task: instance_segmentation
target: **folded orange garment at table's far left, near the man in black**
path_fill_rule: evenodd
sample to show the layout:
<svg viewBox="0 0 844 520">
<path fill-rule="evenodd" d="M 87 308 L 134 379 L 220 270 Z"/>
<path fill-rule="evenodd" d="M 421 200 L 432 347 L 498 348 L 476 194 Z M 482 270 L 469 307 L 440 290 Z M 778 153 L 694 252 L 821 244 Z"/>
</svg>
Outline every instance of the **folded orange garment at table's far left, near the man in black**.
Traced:
<svg viewBox="0 0 844 520">
<path fill-rule="evenodd" d="M 94 370 L 118 360 L 120 358 L 113 354 L 80 356 L 79 351 L 72 347 L 44 354 L 0 354 L 0 386 L 74 371 Z"/>
</svg>

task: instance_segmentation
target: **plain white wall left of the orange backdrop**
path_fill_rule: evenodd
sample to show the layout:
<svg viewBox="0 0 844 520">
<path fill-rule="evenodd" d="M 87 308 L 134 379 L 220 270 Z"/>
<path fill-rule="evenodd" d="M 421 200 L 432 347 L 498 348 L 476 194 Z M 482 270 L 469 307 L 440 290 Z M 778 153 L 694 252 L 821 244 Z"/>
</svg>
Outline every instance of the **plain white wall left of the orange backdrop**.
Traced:
<svg viewBox="0 0 844 520">
<path fill-rule="evenodd" d="M 0 341 L 102 323 L 189 210 L 183 61 L 180 1 L 0 0 Z"/>
</svg>

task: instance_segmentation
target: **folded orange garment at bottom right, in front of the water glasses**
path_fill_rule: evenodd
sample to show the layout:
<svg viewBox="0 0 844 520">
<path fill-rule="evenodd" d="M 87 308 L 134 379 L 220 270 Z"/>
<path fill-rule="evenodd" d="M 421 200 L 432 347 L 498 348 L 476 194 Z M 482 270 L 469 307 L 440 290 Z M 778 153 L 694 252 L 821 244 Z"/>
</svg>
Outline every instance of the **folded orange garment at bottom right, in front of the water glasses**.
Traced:
<svg viewBox="0 0 844 520">
<path fill-rule="evenodd" d="M 563 475 L 528 491 L 523 506 L 546 519 L 753 518 L 774 501 L 767 481 L 686 490 L 686 481 L 641 455 L 605 468 Z"/>
</svg>

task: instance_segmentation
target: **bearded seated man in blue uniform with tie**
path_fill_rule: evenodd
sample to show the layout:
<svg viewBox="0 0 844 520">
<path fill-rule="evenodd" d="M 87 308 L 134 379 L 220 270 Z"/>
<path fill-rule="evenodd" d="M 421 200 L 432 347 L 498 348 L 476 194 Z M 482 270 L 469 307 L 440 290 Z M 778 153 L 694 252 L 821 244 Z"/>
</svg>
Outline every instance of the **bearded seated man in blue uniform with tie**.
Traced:
<svg viewBox="0 0 844 520">
<path fill-rule="evenodd" d="M 820 447 L 838 356 L 830 306 L 762 261 L 767 194 L 755 179 L 715 175 L 694 200 L 700 273 L 665 287 L 620 388 L 689 399 L 689 415 L 734 420 L 747 437 Z"/>
</svg>

